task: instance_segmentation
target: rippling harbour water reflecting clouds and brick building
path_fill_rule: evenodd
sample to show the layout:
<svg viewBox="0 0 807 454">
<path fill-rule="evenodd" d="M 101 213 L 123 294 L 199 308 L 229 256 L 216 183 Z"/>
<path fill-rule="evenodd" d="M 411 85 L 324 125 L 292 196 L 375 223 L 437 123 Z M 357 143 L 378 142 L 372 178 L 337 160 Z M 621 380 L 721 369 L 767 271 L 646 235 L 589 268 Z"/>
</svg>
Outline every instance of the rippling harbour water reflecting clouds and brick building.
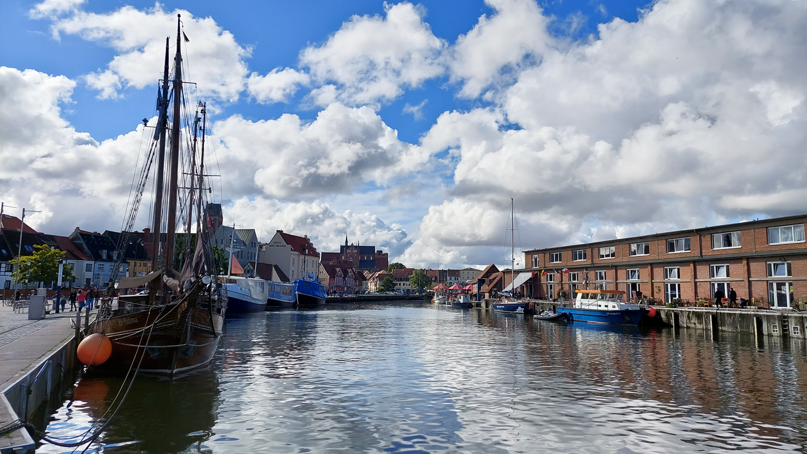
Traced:
<svg viewBox="0 0 807 454">
<path fill-rule="evenodd" d="M 801 452 L 805 351 L 444 306 L 249 314 L 210 368 L 138 379 L 88 452 Z M 120 384 L 78 381 L 48 434 L 85 430 Z"/>
</svg>

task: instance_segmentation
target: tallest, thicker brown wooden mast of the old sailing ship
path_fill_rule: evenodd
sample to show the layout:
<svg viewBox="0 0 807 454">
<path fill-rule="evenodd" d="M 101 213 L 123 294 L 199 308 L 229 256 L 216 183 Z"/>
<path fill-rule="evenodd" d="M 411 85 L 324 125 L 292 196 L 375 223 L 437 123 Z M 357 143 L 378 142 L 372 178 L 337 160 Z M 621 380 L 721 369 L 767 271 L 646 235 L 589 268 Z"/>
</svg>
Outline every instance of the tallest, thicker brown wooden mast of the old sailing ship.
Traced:
<svg viewBox="0 0 807 454">
<path fill-rule="evenodd" d="M 168 186 L 168 230 L 165 235 L 165 269 L 174 269 L 174 240 L 177 235 L 177 192 L 179 176 L 179 123 L 182 100 L 181 15 L 177 15 L 177 54 L 174 56 L 174 123 L 171 125 L 171 173 Z"/>
</svg>

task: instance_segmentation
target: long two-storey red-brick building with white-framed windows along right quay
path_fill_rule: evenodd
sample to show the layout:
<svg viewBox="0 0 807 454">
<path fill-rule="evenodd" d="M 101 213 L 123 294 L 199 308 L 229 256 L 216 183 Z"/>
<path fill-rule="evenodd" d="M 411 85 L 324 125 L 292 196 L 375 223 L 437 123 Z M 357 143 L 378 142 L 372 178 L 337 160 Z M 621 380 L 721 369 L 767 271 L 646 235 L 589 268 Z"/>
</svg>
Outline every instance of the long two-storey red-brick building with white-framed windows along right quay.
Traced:
<svg viewBox="0 0 807 454">
<path fill-rule="evenodd" d="M 807 215 L 525 251 L 533 298 L 575 289 L 624 290 L 665 302 L 713 298 L 734 288 L 771 308 L 807 297 Z"/>
</svg>

